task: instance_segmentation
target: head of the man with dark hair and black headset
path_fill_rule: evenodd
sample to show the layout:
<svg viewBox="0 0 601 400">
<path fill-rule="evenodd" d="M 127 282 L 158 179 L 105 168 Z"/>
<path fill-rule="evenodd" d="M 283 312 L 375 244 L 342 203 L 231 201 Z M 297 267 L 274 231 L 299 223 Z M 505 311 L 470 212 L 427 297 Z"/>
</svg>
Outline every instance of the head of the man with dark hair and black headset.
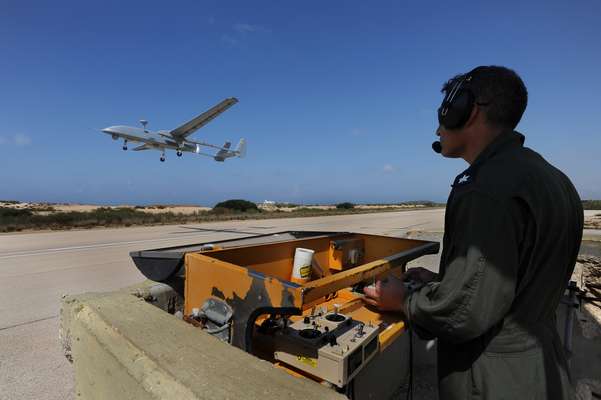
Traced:
<svg viewBox="0 0 601 400">
<path fill-rule="evenodd" d="M 496 135 L 517 126 L 528 103 L 522 79 L 499 66 L 481 66 L 457 75 L 443 85 L 442 92 L 445 100 L 437 130 L 442 155 L 470 163 Z M 446 127 L 445 121 L 457 126 Z"/>
</svg>

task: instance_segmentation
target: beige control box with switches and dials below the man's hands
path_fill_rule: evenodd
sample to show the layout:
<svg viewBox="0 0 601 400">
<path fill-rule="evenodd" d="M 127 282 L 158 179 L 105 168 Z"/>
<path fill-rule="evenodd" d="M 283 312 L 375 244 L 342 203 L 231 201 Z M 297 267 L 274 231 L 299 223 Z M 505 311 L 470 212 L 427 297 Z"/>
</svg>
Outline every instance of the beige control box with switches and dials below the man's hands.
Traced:
<svg viewBox="0 0 601 400">
<path fill-rule="evenodd" d="M 275 359 L 338 387 L 378 353 L 378 327 L 325 310 L 274 334 Z"/>
</svg>

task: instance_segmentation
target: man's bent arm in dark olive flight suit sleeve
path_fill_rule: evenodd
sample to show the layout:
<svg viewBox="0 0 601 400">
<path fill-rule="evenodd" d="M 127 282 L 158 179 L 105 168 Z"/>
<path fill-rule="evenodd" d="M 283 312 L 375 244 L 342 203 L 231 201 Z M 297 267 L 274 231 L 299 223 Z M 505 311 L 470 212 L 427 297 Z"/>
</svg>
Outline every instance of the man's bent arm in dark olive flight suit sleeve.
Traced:
<svg viewBox="0 0 601 400">
<path fill-rule="evenodd" d="M 445 275 L 411 294 L 404 305 L 418 330 L 461 343 L 484 334 L 507 314 L 518 275 L 514 207 L 475 190 L 457 199 Z"/>
</svg>

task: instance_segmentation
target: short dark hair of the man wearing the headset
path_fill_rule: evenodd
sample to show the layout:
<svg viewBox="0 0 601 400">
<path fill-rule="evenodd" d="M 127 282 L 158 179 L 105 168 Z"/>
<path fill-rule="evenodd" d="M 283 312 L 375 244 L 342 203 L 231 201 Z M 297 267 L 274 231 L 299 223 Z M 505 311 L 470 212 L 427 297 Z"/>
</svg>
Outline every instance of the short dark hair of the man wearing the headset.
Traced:
<svg viewBox="0 0 601 400">
<path fill-rule="evenodd" d="M 528 90 L 522 78 L 512 69 L 496 65 L 480 66 L 467 74 L 460 74 L 442 86 L 442 92 L 450 90 L 458 79 L 467 75 L 472 80 L 466 83 L 483 108 L 486 120 L 494 126 L 514 129 L 522 119 L 528 104 Z"/>
</svg>

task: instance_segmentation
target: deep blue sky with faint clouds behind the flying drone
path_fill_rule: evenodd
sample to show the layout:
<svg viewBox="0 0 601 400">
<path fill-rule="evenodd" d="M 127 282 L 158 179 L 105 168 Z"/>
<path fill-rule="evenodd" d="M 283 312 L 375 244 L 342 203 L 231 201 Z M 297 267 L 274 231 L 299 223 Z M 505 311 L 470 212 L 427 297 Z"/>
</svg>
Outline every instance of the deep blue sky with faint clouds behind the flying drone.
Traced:
<svg viewBox="0 0 601 400">
<path fill-rule="evenodd" d="M 601 2 L 12 1 L 0 7 L 0 199 L 444 202 L 441 85 L 478 65 L 529 91 L 518 130 L 601 199 Z M 124 152 L 98 130 L 248 142 L 244 159 Z M 130 145 L 130 148 L 133 147 Z"/>
</svg>

